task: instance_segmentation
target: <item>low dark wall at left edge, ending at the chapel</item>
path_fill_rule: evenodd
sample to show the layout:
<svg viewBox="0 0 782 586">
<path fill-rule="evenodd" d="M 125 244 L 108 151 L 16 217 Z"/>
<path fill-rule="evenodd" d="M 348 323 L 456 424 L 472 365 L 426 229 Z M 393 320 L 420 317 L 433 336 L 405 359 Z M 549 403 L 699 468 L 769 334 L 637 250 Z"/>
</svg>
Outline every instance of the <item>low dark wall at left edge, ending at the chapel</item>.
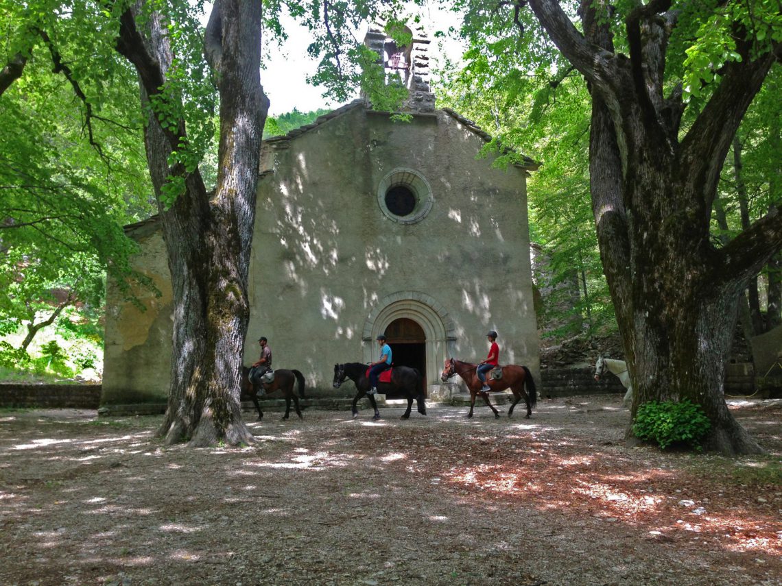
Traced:
<svg viewBox="0 0 782 586">
<path fill-rule="evenodd" d="M 99 384 L 0 384 L 0 407 L 98 409 Z"/>
</svg>

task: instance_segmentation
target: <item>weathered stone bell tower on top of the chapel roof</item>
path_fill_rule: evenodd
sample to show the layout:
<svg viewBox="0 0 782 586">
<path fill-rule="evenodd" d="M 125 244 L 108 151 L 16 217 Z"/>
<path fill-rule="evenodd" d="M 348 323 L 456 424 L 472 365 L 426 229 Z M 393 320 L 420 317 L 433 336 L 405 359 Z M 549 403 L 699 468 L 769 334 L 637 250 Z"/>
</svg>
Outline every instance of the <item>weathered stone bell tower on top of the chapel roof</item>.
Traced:
<svg viewBox="0 0 782 586">
<path fill-rule="evenodd" d="M 412 112 L 432 112 L 435 109 L 435 95 L 429 89 L 429 34 L 421 23 L 415 23 L 411 30 L 410 45 L 397 45 L 389 34 L 387 23 L 372 23 L 364 37 L 364 45 L 378 54 L 378 64 L 386 70 L 386 80 L 397 77 L 407 88 L 408 96 L 402 106 Z M 366 98 L 366 96 L 363 96 Z"/>
</svg>

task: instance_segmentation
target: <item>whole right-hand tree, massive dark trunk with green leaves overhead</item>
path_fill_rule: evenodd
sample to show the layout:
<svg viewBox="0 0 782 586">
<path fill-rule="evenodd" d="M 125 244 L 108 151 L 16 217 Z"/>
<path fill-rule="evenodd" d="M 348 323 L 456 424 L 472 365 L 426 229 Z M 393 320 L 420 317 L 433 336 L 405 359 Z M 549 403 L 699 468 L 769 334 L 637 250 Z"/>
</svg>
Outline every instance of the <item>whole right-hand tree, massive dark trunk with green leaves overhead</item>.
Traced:
<svg viewBox="0 0 782 586">
<path fill-rule="evenodd" d="M 497 63 L 562 70 L 564 56 L 587 81 L 592 209 L 633 415 L 687 398 L 712 423 L 708 448 L 762 451 L 724 402 L 723 359 L 741 291 L 782 247 L 780 202 L 720 248 L 709 227 L 734 134 L 780 56 L 777 3 L 463 4 Z"/>
</svg>

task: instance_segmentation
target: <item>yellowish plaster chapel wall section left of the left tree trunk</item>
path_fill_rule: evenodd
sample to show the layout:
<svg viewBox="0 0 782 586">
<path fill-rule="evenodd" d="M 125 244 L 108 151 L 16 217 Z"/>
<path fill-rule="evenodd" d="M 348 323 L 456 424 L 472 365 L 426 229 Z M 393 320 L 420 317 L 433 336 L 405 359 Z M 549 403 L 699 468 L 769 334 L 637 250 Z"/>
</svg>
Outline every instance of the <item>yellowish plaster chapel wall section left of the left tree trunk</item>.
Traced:
<svg viewBox="0 0 782 586">
<path fill-rule="evenodd" d="M 102 405 L 166 402 L 171 363 L 171 281 L 162 233 L 156 222 L 130 230 L 141 252 L 133 266 L 155 284 L 137 288 L 146 310 L 122 301 L 109 284 L 106 304 Z"/>
</svg>

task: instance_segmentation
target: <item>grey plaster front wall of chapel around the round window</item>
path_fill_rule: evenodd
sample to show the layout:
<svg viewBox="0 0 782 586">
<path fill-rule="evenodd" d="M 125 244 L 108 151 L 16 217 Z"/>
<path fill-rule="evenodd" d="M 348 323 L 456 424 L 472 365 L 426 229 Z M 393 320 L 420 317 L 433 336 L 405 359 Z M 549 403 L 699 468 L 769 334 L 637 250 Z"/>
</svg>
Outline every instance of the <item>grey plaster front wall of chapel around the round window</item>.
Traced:
<svg viewBox="0 0 782 586">
<path fill-rule="evenodd" d="M 482 145 L 446 113 L 394 123 L 363 108 L 278 141 L 264 157 L 274 173 L 259 182 L 245 362 L 265 335 L 275 366 L 327 392 L 333 364 L 375 359 L 375 335 L 407 304 L 439 336 L 427 340 L 430 385 L 447 356 L 485 357 L 489 329 L 500 361 L 540 381 L 525 171 L 492 169 L 475 158 Z M 403 167 L 433 196 L 407 225 L 382 213 L 377 194 Z"/>
</svg>

